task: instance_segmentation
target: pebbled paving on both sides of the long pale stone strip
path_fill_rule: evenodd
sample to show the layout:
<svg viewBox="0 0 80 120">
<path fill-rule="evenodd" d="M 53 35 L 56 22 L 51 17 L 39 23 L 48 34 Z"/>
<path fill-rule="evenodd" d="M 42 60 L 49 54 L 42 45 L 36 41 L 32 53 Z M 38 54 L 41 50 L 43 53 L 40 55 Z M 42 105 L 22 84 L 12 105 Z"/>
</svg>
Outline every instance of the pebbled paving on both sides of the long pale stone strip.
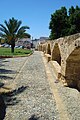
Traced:
<svg viewBox="0 0 80 120">
<path fill-rule="evenodd" d="M 54 71 L 49 63 L 47 65 L 55 83 Z M 0 82 L 15 84 L 14 91 L 5 97 L 4 120 L 63 120 L 59 119 L 60 111 L 47 79 L 40 52 L 29 57 L 1 59 Z M 80 92 L 64 87 L 60 82 L 55 86 L 69 120 L 80 120 Z"/>
</svg>

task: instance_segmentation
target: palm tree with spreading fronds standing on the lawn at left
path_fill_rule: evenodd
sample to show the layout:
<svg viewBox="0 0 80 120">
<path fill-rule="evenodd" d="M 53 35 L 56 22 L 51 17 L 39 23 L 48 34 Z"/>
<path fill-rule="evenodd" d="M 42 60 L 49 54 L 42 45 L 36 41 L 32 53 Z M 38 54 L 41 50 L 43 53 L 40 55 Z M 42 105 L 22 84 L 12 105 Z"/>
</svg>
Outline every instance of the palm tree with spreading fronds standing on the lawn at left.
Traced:
<svg viewBox="0 0 80 120">
<path fill-rule="evenodd" d="M 28 26 L 22 26 L 21 21 L 14 19 L 13 17 L 7 22 L 4 21 L 5 26 L 0 24 L 0 36 L 11 45 L 11 52 L 14 53 L 15 41 L 18 38 L 30 38 L 30 34 L 26 33 Z"/>
</svg>

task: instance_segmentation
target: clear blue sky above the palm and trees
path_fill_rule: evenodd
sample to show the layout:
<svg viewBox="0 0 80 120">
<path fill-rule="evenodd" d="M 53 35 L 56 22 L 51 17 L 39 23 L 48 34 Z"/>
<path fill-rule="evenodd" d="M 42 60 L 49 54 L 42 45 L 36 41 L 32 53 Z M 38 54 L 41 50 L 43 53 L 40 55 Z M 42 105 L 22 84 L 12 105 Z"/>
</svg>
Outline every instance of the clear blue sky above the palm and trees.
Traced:
<svg viewBox="0 0 80 120">
<path fill-rule="evenodd" d="M 28 25 L 33 38 L 49 36 L 50 17 L 55 10 L 78 5 L 80 0 L 0 0 L 0 23 L 14 17 Z"/>
</svg>

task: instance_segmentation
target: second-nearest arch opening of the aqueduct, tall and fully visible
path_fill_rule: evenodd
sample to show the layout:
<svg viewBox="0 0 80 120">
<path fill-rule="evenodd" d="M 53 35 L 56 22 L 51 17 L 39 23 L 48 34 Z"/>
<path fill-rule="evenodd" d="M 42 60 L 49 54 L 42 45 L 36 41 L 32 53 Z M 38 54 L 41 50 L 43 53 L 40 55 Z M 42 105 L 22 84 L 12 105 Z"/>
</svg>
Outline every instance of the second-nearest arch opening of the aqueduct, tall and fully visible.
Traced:
<svg viewBox="0 0 80 120">
<path fill-rule="evenodd" d="M 59 65 L 61 65 L 61 53 L 58 43 L 55 43 L 54 48 L 52 50 L 52 60 L 57 61 Z"/>
</svg>

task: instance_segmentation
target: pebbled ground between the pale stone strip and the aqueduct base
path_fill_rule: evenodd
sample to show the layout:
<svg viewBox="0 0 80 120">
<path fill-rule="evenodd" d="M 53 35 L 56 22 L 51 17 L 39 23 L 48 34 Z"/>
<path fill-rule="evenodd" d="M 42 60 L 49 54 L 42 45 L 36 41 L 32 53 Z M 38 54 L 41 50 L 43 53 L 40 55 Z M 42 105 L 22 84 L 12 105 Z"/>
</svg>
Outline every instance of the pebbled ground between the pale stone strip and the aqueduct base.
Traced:
<svg viewBox="0 0 80 120">
<path fill-rule="evenodd" d="M 52 66 L 48 63 L 51 73 L 54 73 Z M 53 78 L 54 77 L 54 74 Z M 55 79 L 54 83 L 55 83 Z M 58 94 L 65 105 L 70 120 L 80 120 L 80 92 L 77 89 L 64 87 L 61 82 L 55 83 Z M 65 119 L 66 120 L 66 119 Z"/>
</svg>

